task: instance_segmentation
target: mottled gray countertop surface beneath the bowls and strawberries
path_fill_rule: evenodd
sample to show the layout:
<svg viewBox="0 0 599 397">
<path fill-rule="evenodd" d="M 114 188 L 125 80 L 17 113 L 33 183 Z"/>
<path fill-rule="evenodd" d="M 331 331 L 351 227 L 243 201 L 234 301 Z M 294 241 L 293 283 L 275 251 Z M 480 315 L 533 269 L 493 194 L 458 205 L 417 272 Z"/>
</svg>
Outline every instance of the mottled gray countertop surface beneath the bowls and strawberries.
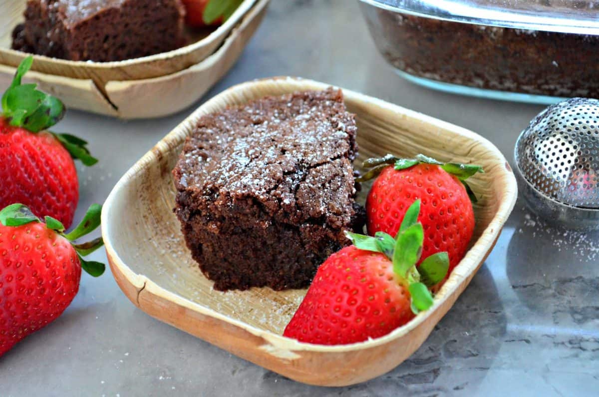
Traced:
<svg viewBox="0 0 599 397">
<path fill-rule="evenodd" d="M 355 1 L 273 0 L 237 65 L 201 101 L 256 77 L 302 76 L 473 130 L 510 161 L 541 106 L 411 85 L 377 53 Z M 198 102 L 201 103 L 201 101 Z M 69 111 L 101 163 L 80 171 L 77 218 L 191 109 L 124 122 Z M 143 249 L 143 247 L 140 247 Z M 1 396 L 575 396 L 599 390 L 599 234 L 544 227 L 516 204 L 494 251 L 425 344 L 379 378 L 343 388 L 288 380 L 135 308 L 110 271 L 83 275 L 71 306 L 0 359 Z M 104 252 L 93 256 L 106 260 Z"/>
</svg>

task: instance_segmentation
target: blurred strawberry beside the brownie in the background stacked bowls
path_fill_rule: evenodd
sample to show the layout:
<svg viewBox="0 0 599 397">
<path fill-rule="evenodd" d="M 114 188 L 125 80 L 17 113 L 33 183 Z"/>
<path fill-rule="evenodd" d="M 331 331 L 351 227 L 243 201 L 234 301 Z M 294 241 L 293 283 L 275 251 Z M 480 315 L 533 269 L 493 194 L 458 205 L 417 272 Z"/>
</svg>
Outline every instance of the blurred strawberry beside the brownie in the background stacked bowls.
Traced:
<svg viewBox="0 0 599 397">
<path fill-rule="evenodd" d="M 185 23 L 193 28 L 220 25 L 243 0 L 183 0 Z"/>
</svg>

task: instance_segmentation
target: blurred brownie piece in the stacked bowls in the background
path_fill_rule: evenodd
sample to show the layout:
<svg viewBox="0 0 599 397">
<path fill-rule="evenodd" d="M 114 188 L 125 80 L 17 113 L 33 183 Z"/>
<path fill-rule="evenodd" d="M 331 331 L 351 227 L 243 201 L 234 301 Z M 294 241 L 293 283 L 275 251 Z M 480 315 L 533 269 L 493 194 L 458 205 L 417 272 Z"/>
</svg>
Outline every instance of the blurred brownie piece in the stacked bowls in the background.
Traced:
<svg viewBox="0 0 599 397">
<path fill-rule="evenodd" d="M 180 0 L 28 0 L 13 49 L 71 59 L 122 61 L 184 45 Z"/>
</svg>

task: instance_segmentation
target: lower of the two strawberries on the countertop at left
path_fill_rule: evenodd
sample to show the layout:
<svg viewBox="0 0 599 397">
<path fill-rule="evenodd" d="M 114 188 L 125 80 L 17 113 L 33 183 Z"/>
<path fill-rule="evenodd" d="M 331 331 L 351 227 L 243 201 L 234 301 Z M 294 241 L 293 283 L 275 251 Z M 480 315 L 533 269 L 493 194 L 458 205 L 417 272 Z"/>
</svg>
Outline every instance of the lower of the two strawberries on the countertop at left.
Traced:
<svg viewBox="0 0 599 397">
<path fill-rule="evenodd" d="M 101 238 L 71 243 L 98 227 L 100 212 L 93 204 L 64 234 L 59 221 L 46 216 L 42 223 L 23 204 L 0 211 L 0 356 L 62 314 L 77 294 L 81 267 L 92 276 L 104 272 L 104 264 L 80 256 L 102 246 Z"/>
</svg>

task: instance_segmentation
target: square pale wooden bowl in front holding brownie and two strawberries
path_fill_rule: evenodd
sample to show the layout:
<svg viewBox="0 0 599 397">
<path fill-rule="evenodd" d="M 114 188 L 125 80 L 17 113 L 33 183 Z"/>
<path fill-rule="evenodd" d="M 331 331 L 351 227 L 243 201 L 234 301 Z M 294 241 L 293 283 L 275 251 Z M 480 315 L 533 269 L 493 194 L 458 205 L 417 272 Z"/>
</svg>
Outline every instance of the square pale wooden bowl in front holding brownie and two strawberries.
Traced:
<svg viewBox="0 0 599 397">
<path fill-rule="evenodd" d="M 344 386 L 390 371 L 422 344 L 491 252 L 513 209 L 517 188 L 506 159 L 483 137 L 344 90 L 347 108 L 356 113 L 358 123 L 358 162 L 389 152 L 406 157 L 423 153 L 484 167 L 484 174 L 471 178 L 471 187 L 480 197 L 474 207 L 476 230 L 470 250 L 435 296 L 434 306 L 389 335 L 341 346 L 302 344 L 283 337 L 305 290 L 213 290 L 190 257 L 173 213 L 171 169 L 201 115 L 264 95 L 326 86 L 276 78 L 234 86 L 212 98 L 120 179 L 104 204 L 102 235 L 114 278 L 143 311 L 294 380 Z"/>
</svg>

